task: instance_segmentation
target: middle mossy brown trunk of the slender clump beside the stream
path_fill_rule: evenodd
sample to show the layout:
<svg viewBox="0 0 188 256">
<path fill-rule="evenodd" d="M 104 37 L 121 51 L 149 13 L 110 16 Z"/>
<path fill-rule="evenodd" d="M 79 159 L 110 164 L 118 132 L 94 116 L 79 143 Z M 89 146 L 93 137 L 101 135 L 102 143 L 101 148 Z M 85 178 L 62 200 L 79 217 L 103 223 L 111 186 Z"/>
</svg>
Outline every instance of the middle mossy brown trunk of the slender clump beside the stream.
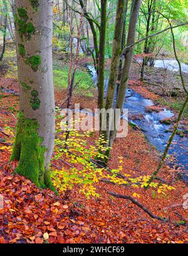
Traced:
<svg viewBox="0 0 188 256">
<path fill-rule="evenodd" d="M 122 31 L 123 31 L 123 16 L 125 12 L 125 0 L 118 0 L 117 3 L 117 13 L 116 13 L 116 21 L 115 21 L 115 33 L 113 37 L 113 50 L 112 50 L 112 60 L 110 66 L 110 75 L 108 82 L 108 90 L 107 90 L 107 100 L 105 109 L 112 109 L 115 87 L 118 77 L 118 67 L 120 63 L 120 53 L 122 46 Z M 105 132 L 105 139 L 108 141 L 110 137 L 110 119 L 109 115 L 107 115 L 107 131 Z"/>
</svg>

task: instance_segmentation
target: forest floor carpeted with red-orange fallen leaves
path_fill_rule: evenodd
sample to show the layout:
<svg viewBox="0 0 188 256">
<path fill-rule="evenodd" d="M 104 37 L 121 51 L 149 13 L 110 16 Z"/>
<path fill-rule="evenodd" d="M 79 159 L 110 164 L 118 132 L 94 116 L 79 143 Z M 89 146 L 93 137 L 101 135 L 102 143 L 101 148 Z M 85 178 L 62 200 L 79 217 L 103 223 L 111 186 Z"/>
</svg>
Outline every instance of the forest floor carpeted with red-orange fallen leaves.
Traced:
<svg viewBox="0 0 188 256">
<path fill-rule="evenodd" d="M 18 92 L 18 82 L 14 78 L 4 78 L 4 75 L 0 87 Z M 154 93 L 146 92 L 156 98 Z M 61 105 L 65 95 L 65 90 L 59 88 L 55 91 L 57 106 Z M 0 193 L 4 197 L 4 208 L 0 209 L 0 243 L 188 242 L 187 210 L 183 208 L 188 198 L 188 187 L 177 179 L 174 169 L 167 165 L 162 168 L 159 176 L 170 182 L 175 189 L 167 195 L 156 196 L 152 196 L 150 189 L 137 188 L 136 192 L 140 195 L 140 203 L 155 215 L 168 218 L 169 221 L 152 219 L 130 201 L 108 195 L 108 191 L 114 191 L 132 196 L 135 192 L 132 187 L 100 181 L 96 184 L 100 198 L 86 199 L 79 193 L 77 186 L 66 195 L 56 196 L 48 189 L 36 188 L 26 178 L 13 176 L 15 166 L 13 163 L 10 167 L 8 161 L 16 129 L 19 99 L 18 95 L 10 92 L 2 92 L 0 99 L 0 142 L 1 146 L 8 146 L 0 149 Z M 97 93 L 94 92 L 92 98 L 75 94 L 75 103 L 80 103 L 81 108 L 94 109 L 97 107 Z M 88 143 L 97 136 L 94 133 Z M 152 174 L 160 157 L 144 134 L 132 127 L 128 127 L 127 137 L 115 140 L 109 161 L 111 168 L 117 168 L 120 156 L 123 157 L 122 173 L 134 177 Z"/>
</svg>

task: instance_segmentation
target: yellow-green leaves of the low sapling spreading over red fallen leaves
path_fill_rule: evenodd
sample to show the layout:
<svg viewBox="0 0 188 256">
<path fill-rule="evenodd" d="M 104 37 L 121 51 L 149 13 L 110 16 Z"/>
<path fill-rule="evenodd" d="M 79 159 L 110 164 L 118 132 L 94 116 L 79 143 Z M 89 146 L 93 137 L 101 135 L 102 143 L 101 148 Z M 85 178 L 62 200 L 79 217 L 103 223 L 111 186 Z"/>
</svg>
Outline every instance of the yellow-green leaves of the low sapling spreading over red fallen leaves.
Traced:
<svg viewBox="0 0 188 256">
<path fill-rule="evenodd" d="M 60 121 L 60 115 L 56 115 L 56 117 Z M 73 124 L 80 121 L 75 120 Z M 90 198 L 90 196 L 99 197 L 96 184 L 102 179 L 115 185 L 132 186 L 135 189 L 139 187 L 147 188 L 149 186 L 152 188 L 152 191 L 164 195 L 167 191 L 174 189 L 167 184 L 150 182 L 151 176 L 149 175 L 132 178 L 130 174 L 127 174 L 123 170 L 123 157 L 119 157 L 120 160 L 117 169 L 99 168 L 95 164 L 94 159 L 100 158 L 105 161 L 107 158 L 102 153 L 107 150 L 103 146 L 106 143 L 104 136 L 100 136 L 97 141 L 89 144 L 88 138 L 92 136 L 92 131 L 78 132 L 73 127 L 73 129 L 67 129 L 66 132 L 62 133 L 59 126 L 67 128 L 66 122 L 61 120 L 57 125 L 54 160 L 60 162 L 61 159 L 66 160 L 65 166 L 61 170 L 51 168 L 53 184 L 59 191 L 63 192 L 72 189 L 74 186 L 78 186 L 80 193 L 86 195 L 87 198 Z M 69 168 L 66 168 L 66 166 L 69 166 Z M 122 176 L 124 178 L 121 178 Z M 152 192 L 152 195 L 154 195 L 154 192 Z M 133 193 L 133 196 L 140 197 L 137 193 Z"/>
</svg>

